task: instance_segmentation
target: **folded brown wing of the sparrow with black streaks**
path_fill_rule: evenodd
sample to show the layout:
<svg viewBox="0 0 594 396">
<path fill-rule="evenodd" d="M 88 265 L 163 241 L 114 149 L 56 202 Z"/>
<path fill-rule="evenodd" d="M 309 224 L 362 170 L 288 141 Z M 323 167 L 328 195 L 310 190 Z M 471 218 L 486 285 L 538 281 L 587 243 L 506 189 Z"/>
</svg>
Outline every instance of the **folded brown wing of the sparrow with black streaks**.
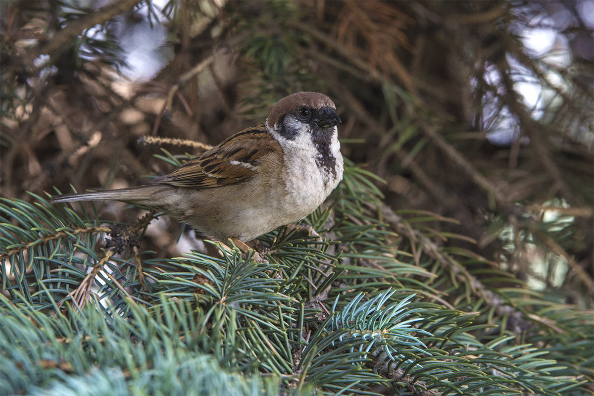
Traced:
<svg viewBox="0 0 594 396">
<path fill-rule="evenodd" d="M 256 125 L 238 132 L 153 182 L 185 188 L 241 183 L 255 174 L 261 157 L 274 150 L 280 152 L 281 148 L 266 131 L 266 125 Z"/>
</svg>

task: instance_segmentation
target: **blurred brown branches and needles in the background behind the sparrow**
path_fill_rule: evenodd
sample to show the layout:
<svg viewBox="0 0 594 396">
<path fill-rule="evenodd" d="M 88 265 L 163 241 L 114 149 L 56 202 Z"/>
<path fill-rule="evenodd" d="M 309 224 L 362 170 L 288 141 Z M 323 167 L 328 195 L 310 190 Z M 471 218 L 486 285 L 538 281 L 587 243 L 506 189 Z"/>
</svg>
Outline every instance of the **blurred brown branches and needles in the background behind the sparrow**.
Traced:
<svg viewBox="0 0 594 396">
<path fill-rule="evenodd" d="M 585 384 L 576 394 L 592 391 L 592 313 L 579 310 L 593 308 L 594 293 L 594 2 L 0 7 L 2 197 L 25 205 L 36 200 L 27 191 L 54 186 L 138 185 L 171 169 L 173 156 L 153 157 L 163 148 L 196 152 L 139 138 L 216 144 L 262 122 L 280 97 L 321 91 L 343 120 L 344 156 L 378 176 L 365 182 L 375 198 L 337 210 L 357 219 L 353 227 L 396 232 L 374 237 L 433 275 L 409 291 L 480 312 L 476 325 L 497 324 L 493 332 L 517 343 L 549 347 Z M 97 217 L 134 223 L 138 211 L 124 207 L 106 202 Z M 160 218 L 142 248 L 150 259 L 178 256 L 194 246 L 187 236 L 176 243 L 179 235 Z M 342 242 L 346 259 L 361 249 Z M 352 293 L 352 278 L 332 290 Z"/>
</svg>

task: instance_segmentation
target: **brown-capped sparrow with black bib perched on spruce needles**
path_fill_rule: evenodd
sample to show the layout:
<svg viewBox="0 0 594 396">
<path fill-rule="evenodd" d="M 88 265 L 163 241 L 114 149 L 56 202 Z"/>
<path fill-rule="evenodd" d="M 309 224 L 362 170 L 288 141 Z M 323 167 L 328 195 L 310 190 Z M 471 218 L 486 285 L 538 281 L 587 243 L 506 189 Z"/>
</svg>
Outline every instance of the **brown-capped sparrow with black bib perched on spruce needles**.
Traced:
<svg viewBox="0 0 594 396">
<path fill-rule="evenodd" d="M 201 235 L 247 242 L 312 213 L 342 180 L 334 102 L 317 92 L 280 99 L 244 129 L 150 184 L 59 195 L 113 199 L 185 221 Z"/>
</svg>

